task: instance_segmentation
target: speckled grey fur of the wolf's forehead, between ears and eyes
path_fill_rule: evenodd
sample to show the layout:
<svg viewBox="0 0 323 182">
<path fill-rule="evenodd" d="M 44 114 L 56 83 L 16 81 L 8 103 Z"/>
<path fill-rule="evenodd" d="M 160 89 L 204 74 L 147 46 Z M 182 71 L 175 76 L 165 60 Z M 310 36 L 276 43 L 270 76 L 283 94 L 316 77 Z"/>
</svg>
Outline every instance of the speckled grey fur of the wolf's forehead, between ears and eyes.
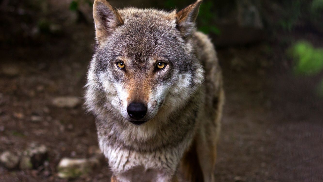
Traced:
<svg viewBox="0 0 323 182">
<path fill-rule="evenodd" d="M 125 57 L 139 63 L 181 59 L 185 42 L 176 28 L 175 11 L 125 8 L 118 12 L 124 23 L 111 32 L 103 46 L 110 59 Z"/>
</svg>

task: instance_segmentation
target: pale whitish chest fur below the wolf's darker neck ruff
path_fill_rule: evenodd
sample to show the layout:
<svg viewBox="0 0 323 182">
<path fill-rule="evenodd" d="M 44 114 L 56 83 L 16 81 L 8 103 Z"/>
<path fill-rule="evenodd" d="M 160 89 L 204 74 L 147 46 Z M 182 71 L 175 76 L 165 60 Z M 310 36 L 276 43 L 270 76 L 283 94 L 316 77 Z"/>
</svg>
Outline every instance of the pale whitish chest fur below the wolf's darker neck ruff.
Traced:
<svg viewBox="0 0 323 182">
<path fill-rule="evenodd" d="M 175 173 L 183 153 L 190 144 L 191 140 L 185 140 L 175 147 L 140 152 L 105 145 L 104 140 L 99 140 L 100 148 L 109 160 L 109 167 L 116 174 L 132 173 L 133 170 L 139 170 L 144 174 L 151 171 L 154 171 L 154 174 Z"/>
</svg>

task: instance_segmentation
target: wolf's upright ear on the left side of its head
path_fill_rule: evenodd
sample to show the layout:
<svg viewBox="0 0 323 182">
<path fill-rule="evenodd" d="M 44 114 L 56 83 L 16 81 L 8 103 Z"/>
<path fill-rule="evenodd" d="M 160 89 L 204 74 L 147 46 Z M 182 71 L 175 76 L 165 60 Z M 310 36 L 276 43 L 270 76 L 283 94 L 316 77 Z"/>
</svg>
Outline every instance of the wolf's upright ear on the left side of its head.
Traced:
<svg viewBox="0 0 323 182">
<path fill-rule="evenodd" d="M 94 1 L 93 18 L 95 23 L 95 35 L 98 43 L 108 37 L 116 27 L 123 24 L 123 20 L 118 11 L 106 0 Z"/>
</svg>

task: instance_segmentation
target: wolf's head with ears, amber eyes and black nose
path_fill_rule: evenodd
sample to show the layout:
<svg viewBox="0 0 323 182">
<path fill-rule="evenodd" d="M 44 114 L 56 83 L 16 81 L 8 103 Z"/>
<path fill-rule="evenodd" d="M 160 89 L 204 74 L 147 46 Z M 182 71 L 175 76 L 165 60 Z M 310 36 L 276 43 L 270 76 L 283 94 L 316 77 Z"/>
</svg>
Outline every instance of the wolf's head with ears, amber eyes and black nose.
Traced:
<svg viewBox="0 0 323 182">
<path fill-rule="evenodd" d="M 185 105 L 203 83 L 193 34 L 198 0 L 179 12 L 125 8 L 95 0 L 97 49 L 86 104 L 97 115 L 140 125 Z M 119 119 L 118 119 L 119 118 Z"/>
</svg>

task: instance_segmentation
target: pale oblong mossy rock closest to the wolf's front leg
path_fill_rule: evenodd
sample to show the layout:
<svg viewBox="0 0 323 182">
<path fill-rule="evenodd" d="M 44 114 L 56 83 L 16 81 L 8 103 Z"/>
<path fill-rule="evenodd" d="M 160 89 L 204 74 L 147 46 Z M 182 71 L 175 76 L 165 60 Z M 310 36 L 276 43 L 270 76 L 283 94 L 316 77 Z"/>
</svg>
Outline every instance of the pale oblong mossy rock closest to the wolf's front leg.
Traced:
<svg viewBox="0 0 323 182">
<path fill-rule="evenodd" d="M 89 159 L 63 158 L 57 166 L 57 175 L 67 179 L 86 176 L 99 165 L 100 161 L 95 157 Z"/>
</svg>

